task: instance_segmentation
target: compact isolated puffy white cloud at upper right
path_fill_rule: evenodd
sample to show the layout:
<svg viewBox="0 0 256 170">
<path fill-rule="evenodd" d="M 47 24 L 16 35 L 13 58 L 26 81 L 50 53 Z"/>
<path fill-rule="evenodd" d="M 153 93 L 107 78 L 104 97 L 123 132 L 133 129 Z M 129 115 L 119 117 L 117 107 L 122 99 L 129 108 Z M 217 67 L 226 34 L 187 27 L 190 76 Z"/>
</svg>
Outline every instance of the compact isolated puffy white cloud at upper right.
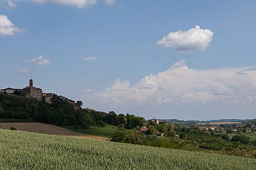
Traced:
<svg viewBox="0 0 256 170">
<path fill-rule="evenodd" d="M 170 32 L 162 40 L 157 42 L 158 45 L 174 48 L 179 53 L 188 53 L 197 50 L 205 50 L 212 41 L 213 32 L 203 30 L 199 26 L 191 28 L 188 31 Z"/>
</svg>

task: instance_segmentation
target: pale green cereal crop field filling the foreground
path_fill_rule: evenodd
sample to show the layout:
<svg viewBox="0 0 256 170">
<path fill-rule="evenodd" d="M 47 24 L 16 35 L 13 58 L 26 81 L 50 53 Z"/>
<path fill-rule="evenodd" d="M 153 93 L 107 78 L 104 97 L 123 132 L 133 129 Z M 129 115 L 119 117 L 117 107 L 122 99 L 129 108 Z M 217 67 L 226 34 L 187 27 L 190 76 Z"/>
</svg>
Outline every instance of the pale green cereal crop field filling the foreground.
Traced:
<svg viewBox="0 0 256 170">
<path fill-rule="evenodd" d="M 256 159 L 0 130 L 0 169 L 253 170 Z"/>
</svg>

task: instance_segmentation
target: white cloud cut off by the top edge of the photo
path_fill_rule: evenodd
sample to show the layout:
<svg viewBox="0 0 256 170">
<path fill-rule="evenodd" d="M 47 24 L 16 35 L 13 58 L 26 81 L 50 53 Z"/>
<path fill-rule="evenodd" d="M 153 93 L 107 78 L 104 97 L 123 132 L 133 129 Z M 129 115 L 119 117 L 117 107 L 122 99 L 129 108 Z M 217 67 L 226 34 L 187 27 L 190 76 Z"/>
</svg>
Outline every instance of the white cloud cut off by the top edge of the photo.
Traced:
<svg viewBox="0 0 256 170">
<path fill-rule="evenodd" d="M 45 3 L 45 2 L 54 2 L 57 4 L 63 4 L 67 6 L 76 6 L 78 8 L 82 8 L 85 6 L 89 6 L 91 4 L 95 4 L 96 0 L 31 0 L 36 3 Z"/>
</svg>

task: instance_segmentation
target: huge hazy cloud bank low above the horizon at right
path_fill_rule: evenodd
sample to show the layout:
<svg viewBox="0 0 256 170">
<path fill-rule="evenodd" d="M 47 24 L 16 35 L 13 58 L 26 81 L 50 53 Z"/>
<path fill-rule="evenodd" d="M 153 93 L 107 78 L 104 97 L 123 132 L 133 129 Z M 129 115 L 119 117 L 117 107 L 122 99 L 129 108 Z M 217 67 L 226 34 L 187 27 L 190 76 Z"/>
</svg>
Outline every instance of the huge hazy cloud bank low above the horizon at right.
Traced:
<svg viewBox="0 0 256 170">
<path fill-rule="evenodd" d="M 90 99 L 103 104 L 170 105 L 170 104 L 245 104 L 256 96 L 256 70 L 252 67 L 197 70 L 175 62 L 166 71 L 143 77 L 131 86 L 117 79 L 105 91 L 92 93 Z M 237 74 L 243 71 L 246 74 Z M 255 100 L 256 101 L 256 100 Z"/>
</svg>

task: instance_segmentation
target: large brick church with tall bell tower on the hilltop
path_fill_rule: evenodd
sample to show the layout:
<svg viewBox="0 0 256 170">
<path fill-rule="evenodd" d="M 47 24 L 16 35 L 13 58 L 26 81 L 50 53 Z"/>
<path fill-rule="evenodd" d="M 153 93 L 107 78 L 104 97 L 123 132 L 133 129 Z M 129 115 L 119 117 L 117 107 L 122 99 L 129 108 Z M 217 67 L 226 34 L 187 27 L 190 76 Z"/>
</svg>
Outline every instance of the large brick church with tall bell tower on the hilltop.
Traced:
<svg viewBox="0 0 256 170">
<path fill-rule="evenodd" d="M 36 88 L 33 86 L 33 80 L 29 80 L 29 86 L 23 88 L 23 95 L 26 98 L 34 98 L 36 100 L 42 100 L 43 91 L 40 88 Z"/>
</svg>

